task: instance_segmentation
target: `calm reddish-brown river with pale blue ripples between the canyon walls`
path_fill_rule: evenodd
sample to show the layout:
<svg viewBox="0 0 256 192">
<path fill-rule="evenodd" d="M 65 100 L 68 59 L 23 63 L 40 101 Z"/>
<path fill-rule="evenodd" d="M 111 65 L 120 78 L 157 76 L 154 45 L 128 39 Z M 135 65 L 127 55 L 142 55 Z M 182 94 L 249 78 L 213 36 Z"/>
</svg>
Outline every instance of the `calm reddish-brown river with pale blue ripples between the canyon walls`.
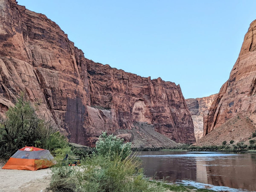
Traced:
<svg viewBox="0 0 256 192">
<path fill-rule="evenodd" d="M 141 151 L 145 175 L 216 191 L 256 191 L 256 153 Z"/>
</svg>

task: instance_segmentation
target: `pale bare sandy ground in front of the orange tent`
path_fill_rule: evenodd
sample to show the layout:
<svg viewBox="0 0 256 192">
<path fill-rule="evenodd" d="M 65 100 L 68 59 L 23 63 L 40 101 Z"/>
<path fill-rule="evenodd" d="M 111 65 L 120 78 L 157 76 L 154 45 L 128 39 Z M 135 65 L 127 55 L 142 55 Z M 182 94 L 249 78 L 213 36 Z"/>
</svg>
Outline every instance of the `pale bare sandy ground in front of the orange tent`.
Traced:
<svg viewBox="0 0 256 192">
<path fill-rule="evenodd" d="M 37 171 L 0 169 L 0 191 L 44 192 L 50 183 L 49 173 L 49 168 Z"/>
</svg>

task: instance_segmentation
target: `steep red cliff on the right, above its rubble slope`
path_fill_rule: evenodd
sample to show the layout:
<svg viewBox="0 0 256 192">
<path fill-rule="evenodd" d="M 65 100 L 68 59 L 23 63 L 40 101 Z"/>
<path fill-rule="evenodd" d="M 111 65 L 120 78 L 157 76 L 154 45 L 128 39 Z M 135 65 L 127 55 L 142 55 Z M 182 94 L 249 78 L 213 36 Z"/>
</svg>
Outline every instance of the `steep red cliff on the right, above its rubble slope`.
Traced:
<svg viewBox="0 0 256 192">
<path fill-rule="evenodd" d="M 244 36 L 241 51 L 229 79 L 220 89 L 204 118 L 204 135 L 234 116 L 256 123 L 256 20 Z"/>
</svg>

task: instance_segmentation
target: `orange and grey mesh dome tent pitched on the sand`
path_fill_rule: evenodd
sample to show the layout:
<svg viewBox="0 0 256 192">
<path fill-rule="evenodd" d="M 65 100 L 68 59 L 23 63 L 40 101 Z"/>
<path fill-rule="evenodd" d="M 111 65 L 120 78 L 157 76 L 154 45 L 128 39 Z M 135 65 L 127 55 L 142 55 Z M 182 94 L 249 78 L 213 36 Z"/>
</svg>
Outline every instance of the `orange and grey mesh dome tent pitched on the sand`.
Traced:
<svg viewBox="0 0 256 192">
<path fill-rule="evenodd" d="M 53 156 L 49 150 L 36 147 L 23 147 L 19 149 L 2 169 L 31 170 L 45 169 L 53 165 Z"/>
</svg>

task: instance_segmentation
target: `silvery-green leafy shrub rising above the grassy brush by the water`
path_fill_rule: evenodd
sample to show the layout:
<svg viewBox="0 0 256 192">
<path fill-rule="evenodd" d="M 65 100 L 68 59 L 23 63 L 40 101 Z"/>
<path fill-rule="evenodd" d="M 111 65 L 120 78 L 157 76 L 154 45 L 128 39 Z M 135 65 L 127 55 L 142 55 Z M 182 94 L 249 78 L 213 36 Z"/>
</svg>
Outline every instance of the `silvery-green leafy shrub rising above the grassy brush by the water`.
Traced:
<svg viewBox="0 0 256 192">
<path fill-rule="evenodd" d="M 113 134 L 107 135 L 107 132 L 102 132 L 99 140 L 96 142 L 96 150 L 102 156 L 115 156 L 118 155 L 121 159 L 125 159 L 131 155 L 131 143 L 123 143 L 124 140 L 117 138 Z"/>
</svg>

